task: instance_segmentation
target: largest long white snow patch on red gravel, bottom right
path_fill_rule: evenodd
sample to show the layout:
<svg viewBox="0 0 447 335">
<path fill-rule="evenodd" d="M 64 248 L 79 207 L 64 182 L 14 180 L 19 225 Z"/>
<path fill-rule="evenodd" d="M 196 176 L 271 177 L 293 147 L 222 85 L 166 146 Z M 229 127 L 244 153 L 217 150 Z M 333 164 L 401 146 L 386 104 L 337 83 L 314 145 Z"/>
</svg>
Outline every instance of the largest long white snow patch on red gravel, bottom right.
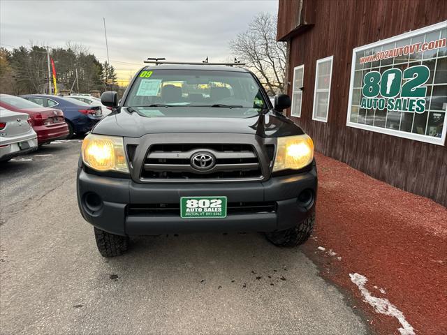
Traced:
<svg viewBox="0 0 447 335">
<path fill-rule="evenodd" d="M 365 284 L 368 279 L 361 274 L 349 274 L 351 281 L 357 285 L 358 289 L 362 293 L 363 300 L 374 307 L 374 311 L 377 313 L 390 315 L 400 322 L 402 325 L 399 330 L 401 335 L 415 335 L 413 327 L 405 320 L 404 313 L 399 311 L 396 306 L 390 303 L 388 299 L 373 297 L 371 293 L 365 288 Z"/>
</svg>

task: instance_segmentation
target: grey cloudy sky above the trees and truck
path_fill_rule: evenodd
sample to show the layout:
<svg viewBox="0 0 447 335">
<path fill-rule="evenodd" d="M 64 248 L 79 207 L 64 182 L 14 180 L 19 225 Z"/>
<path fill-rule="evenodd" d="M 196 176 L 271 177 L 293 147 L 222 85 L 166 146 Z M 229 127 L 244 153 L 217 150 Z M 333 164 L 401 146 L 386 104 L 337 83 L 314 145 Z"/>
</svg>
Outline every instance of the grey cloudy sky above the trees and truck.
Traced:
<svg viewBox="0 0 447 335">
<path fill-rule="evenodd" d="M 0 43 L 64 46 L 68 41 L 107 59 L 127 81 L 147 57 L 223 61 L 228 42 L 259 12 L 277 13 L 277 0 L 18 1 L 0 0 Z"/>
</svg>

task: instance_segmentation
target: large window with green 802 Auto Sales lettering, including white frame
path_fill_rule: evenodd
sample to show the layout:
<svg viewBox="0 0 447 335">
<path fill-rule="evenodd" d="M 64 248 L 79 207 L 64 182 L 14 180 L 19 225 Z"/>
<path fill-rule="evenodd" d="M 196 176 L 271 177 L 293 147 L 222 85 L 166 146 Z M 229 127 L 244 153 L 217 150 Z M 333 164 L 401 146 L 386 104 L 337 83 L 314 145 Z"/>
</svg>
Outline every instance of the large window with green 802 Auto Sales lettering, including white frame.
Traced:
<svg viewBox="0 0 447 335">
<path fill-rule="evenodd" d="M 347 126 L 444 144 L 446 24 L 353 50 Z"/>
</svg>

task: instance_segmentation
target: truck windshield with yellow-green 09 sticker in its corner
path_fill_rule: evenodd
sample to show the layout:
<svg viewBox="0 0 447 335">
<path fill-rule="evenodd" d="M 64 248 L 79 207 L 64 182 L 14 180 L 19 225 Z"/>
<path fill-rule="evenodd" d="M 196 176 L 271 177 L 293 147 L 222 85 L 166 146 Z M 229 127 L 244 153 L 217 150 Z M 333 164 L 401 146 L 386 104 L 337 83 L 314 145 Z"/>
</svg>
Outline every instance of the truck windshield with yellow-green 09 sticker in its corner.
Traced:
<svg viewBox="0 0 447 335">
<path fill-rule="evenodd" d="M 221 70 L 142 70 L 125 106 L 268 107 L 250 73 Z"/>
</svg>

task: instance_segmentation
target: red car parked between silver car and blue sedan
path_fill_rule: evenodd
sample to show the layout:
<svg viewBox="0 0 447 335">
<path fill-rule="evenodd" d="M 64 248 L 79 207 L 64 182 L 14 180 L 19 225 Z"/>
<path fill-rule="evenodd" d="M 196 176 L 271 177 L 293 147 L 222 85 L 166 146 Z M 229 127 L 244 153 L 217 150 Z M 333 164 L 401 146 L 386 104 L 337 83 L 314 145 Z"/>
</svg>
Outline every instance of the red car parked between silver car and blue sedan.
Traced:
<svg viewBox="0 0 447 335">
<path fill-rule="evenodd" d="M 0 94 L 0 106 L 13 112 L 29 114 L 31 126 L 37 133 L 38 145 L 68 136 L 68 125 L 64 119 L 64 112 L 61 110 L 45 108 L 24 98 L 8 94 Z"/>
</svg>

